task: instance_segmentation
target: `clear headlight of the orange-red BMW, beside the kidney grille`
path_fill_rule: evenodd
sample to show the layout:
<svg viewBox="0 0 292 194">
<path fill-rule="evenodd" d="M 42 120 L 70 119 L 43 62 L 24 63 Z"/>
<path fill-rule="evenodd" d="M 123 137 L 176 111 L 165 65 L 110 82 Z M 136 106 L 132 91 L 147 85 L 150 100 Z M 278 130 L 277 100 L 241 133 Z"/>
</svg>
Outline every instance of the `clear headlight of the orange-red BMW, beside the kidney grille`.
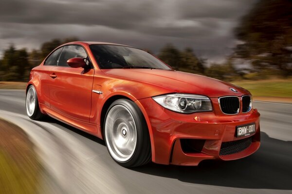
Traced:
<svg viewBox="0 0 292 194">
<path fill-rule="evenodd" d="M 165 109 L 178 113 L 196 113 L 213 110 L 211 100 L 201 95 L 168 94 L 152 98 Z"/>
</svg>

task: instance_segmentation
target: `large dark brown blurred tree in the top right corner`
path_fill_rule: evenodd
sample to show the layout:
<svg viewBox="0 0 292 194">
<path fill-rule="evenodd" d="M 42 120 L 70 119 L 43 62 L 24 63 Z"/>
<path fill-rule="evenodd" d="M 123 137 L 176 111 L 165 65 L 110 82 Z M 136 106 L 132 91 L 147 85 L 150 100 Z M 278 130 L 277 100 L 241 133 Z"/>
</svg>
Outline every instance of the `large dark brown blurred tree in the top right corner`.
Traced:
<svg viewBox="0 0 292 194">
<path fill-rule="evenodd" d="M 250 60 L 258 72 L 292 75 L 291 0 L 260 0 L 242 18 L 236 36 L 243 42 L 237 56 Z"/>
</svg>

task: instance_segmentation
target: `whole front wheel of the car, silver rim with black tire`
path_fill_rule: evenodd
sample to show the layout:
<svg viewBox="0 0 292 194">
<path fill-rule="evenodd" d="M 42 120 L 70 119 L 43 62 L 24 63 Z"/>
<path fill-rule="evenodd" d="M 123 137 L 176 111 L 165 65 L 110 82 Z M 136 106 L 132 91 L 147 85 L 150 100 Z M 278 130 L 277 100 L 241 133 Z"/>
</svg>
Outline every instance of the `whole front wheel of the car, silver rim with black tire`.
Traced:
<svg viewBox="0 0 292 194">
<path fill-rule="evenodd" d="M 128 99 L 114 101 L 105 118 L 105 141 L 110 156 L 124 167 L 151 161 L 151 146 L 145 118 Z"/>
</svg>

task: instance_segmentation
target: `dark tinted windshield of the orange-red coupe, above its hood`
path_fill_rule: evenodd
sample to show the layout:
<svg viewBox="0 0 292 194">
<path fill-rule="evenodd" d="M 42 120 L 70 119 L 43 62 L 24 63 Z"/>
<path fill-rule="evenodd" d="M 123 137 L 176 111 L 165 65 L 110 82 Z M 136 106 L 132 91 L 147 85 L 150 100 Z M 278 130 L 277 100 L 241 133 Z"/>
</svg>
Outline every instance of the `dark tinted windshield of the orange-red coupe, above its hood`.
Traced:
<svg viewBox="0 0 292 194">
<path fill-rule="evenodd" d="M 148 52 L 117 45 L 90 45 L 91 51 L 101 69 L 117 68 L 170 68 Z"/>
</svg>

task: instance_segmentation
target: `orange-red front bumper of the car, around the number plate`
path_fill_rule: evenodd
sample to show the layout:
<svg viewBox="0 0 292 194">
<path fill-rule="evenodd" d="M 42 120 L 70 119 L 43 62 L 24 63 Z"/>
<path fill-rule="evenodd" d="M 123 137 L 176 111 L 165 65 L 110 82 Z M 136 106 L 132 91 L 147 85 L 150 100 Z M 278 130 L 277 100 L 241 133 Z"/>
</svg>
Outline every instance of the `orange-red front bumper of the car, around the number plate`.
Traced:
<svg viewBox="0 0 292 194">
<path fill-rule="evenodd" d="M 260 127 L 257 110 L 237 115 L 226 115 L 220 111 L 218 98 L 211 98 L 213 112 L 182 114 L 169 111 L 151 97 L 137 100 L 143 107 L 148 124 L 152 161 L 161 164 L 198 165 L 206 159 L 235 160 L 254 153 L 260 145 Z M 242 106 L 240 106 L 242 107 Z M 256 124 L 256 133 L 246 137 L 236 137 L 236 126 Z M 252 136 L 252 137 L 251 137 Z M 224 142 L 232 142 L 251 137 L 252 143 L 244 150 L 220 155 Z M 196 151 L 183 149 L 185 139 L 194 140 Z M 200 146 L 200 144 L 202 144 Z M 199 147 L 199 150 L 197 149 Z"/>
</svg>

